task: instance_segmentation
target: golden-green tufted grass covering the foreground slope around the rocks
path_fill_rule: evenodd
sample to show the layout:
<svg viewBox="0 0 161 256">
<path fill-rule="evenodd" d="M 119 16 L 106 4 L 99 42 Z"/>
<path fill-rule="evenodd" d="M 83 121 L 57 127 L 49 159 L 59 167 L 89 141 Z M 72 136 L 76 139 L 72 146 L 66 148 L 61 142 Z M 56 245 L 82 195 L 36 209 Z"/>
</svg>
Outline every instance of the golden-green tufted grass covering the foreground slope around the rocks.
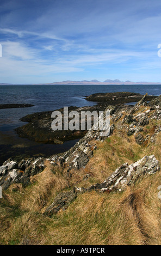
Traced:
<svg viewBox="0 0 161 256">
<path fill-rule="evenodd" d="M 157 121 L 157 125 L 160 124 Z M 152 135 L 156 121 L 150 120 L 146 134 Z M 120 127 L 119 123 L 118 126 Z M 161 163 L 161 135 L 141 147 L 134 136 L 116 129 L 113 136 L 97 143 L 94 157 L 85 168 L 71 170 L 46 162 L 44 172 L 33 176 L 32 185 L 11 185 L 0 199 L 0 245 L 160 245 L 161 200 L 157 187 L 161 172 L 139 180 L 121 193 L 96 191 L 79 194 L 69 208 L 51 218 L 42 215 L 55 196 L 72 186 L 89 187 L 102 182 L 122 163 L 154 154 Z M 85 174 L 90 177 L 83 180 Z"/>
</svg>

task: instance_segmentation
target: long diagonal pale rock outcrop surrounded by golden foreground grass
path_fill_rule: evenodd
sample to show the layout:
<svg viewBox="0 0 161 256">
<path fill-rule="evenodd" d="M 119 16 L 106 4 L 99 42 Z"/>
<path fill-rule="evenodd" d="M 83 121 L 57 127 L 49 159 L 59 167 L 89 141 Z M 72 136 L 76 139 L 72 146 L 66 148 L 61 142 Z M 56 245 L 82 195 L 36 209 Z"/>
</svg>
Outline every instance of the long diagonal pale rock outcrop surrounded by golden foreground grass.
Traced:
<svg viewBox="0 0 161 256">
<path fill-rule="evenodd" d="M 135 182 L 144 176 L 152 175 L 160 170 L 159 162 L 154 155 L 145 156 L 143 159 L 128 165 L 122 164 L 101 184 L 95 184 L 88 188 L 75 187 L 68 192 L 59 193 L 54 202 L 48 206 L 44 214 L 51 216 L 60 210 L 66 210 L 70 203 L 77 198 L 78 193 L 85 193 L 91 190 L 101 192 L 121 192 L 126 186 L 133 186 Z"/>
</svg>

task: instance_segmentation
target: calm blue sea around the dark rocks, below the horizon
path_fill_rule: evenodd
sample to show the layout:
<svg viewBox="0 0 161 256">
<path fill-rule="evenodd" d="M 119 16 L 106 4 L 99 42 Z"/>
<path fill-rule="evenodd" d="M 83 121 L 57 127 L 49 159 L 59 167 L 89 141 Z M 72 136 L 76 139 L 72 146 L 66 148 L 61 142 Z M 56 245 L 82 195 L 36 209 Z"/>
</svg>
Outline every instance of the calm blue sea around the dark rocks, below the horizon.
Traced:
<svg viewBox="0 0 161 256">
<path fill-rule="evenodd" d="M 30 103 L 34 107 L 0 109 L 0 164 L 8 157 L 49 156 L 71 148 L 76 141 L 63 145 L 38 144 L 19 138 L 14 129 L 24 125 L 19 119 L 27 114 L 54 111 L 64 106 L 94 106 L 84 96 L 94 93 L 134 92 L 160 95 L 161 86 L 0 86 L 0 104 Z"/>
</svg>

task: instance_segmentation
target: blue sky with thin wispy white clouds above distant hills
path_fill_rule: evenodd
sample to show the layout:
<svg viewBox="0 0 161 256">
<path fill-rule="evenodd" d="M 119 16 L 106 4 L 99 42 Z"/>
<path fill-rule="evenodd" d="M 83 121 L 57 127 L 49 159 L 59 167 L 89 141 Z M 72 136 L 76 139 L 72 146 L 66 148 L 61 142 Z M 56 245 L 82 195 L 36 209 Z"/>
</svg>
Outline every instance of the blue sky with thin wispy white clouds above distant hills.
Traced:
<svg viewBox="0 0 161 256">
<path fill-rule="evenodd" d="M 161 1 L 0 0 L 0 83 L 161 82 Z"/>
</svg>

